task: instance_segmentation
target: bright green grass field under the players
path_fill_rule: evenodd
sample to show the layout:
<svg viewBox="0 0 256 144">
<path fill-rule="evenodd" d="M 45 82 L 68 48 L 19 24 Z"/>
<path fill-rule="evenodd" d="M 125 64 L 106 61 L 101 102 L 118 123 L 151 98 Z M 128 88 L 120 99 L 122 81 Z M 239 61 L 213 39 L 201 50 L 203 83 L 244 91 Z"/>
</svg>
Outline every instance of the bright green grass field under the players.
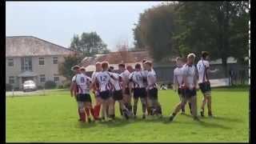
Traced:
<svg viewBox="0 0 256 144">
<path fill-rule="evenodd" d="M 248 88 L 214 89 L 215 118 L 195 122 L 188 114 L 166 122 L 179 101 L 173 90 L 158 92 L 164 118 L 78 122 L 77 103 L 68 90 L 46 96 L 6 98 L 6 142 L 249 142 Z M 198 92 L 198 107 L 202 94 Z M 206 111 L 207 112 L 207 111 Z"/>
</svg>

